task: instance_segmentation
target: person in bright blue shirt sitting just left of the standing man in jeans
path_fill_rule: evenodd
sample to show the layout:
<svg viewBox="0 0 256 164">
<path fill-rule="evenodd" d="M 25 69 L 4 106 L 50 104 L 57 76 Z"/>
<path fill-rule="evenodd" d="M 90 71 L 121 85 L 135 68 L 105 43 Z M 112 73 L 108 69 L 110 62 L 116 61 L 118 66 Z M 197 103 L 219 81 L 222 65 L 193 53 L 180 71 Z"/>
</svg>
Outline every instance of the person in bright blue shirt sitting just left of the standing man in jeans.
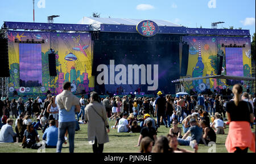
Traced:
<svg viewBox="0 0 256 164">
<path fill-rule="evenodd" d="M 58 128 L 55 126 L 55 121 L 49 122 L 49 127 L 44 131 L 43 140 L 46 140 L 46 148 L 56 148 L 58 141 Z"/>
</svg>

